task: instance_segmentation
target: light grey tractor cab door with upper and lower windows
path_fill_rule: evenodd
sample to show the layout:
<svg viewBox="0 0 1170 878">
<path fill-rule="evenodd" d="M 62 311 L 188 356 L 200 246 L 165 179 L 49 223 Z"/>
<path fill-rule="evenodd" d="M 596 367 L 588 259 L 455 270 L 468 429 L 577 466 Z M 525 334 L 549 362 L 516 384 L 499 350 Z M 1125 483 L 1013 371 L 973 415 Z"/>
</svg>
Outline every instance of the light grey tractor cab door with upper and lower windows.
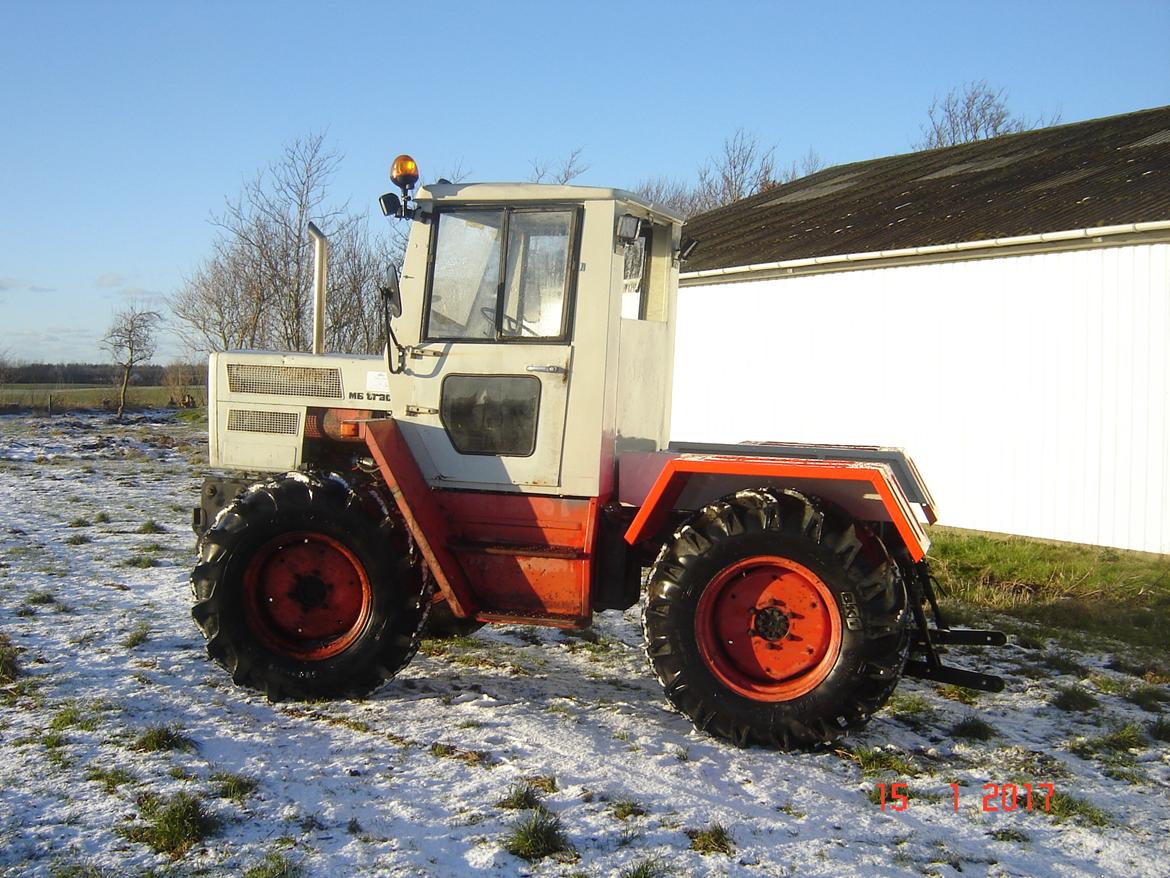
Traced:
<svg viewBox="0 0 1170 878">
<path fill-rule="evenodd" d="M 435 214 L 402 418 L 432 483 L 560 485 L 579 226 L 577 205 Z"/>
</svg>

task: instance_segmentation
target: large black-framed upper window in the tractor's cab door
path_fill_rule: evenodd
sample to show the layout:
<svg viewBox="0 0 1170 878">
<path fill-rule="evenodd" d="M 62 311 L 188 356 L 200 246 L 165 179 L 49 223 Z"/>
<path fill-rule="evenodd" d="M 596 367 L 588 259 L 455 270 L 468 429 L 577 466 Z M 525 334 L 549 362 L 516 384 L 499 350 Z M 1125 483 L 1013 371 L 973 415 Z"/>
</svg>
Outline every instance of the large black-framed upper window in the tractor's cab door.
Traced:
<svg viewBox="0 0 1170 878">
<path fill-rule="evenodd" d="M 425 338 L 566 337 L 572 210 L 443 211 L 438 224 Z"/>
</svg>

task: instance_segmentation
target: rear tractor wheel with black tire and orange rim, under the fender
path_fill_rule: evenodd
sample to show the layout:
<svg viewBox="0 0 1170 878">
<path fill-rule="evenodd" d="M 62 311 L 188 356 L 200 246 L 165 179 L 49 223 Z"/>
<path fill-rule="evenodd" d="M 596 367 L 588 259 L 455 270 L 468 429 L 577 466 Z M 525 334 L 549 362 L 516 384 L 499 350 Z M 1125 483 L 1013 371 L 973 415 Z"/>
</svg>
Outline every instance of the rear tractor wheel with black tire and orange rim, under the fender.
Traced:
<svg viewBox="0 0 1170 878">
<path fill-rule="evenodd" d="M 910 644 L 881 541 L 794 491 L 741 491 L 679 528 L 651 570 L 642 626 L 667 699 L 696 728 L 784 750 L 861 728 Z"/>
</svg>

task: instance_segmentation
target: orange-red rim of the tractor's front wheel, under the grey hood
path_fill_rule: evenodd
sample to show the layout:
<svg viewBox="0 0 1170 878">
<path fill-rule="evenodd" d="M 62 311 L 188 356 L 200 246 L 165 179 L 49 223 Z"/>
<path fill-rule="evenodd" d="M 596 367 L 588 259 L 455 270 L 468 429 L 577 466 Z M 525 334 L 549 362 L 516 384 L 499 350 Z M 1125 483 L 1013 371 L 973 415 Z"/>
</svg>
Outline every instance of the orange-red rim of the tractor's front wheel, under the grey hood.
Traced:
<svg viewBox="0 0 1170 878">
<path fill-rule="evenodd" d="M 243 574 L 245 616 L 269 650 L 321 660 L 346 650 L 370 619 L 373 590 L 350 549 L 309 530 L 281 534 Z"/>
</svg>

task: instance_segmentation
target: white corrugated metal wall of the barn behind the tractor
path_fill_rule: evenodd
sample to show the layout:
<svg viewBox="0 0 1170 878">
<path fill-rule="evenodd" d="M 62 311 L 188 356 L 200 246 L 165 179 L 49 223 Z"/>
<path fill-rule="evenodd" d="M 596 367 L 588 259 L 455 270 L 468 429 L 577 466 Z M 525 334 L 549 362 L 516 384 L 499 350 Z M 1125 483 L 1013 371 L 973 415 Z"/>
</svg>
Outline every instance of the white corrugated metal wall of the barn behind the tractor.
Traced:
<svg viewBox="0 0 1170 878">
<path fill-rule="evenodd" d="M 679 295 L 672 438 L 907 448 L 956 527 L 1170 553 L 1170 243 Z"/>
</svg>

